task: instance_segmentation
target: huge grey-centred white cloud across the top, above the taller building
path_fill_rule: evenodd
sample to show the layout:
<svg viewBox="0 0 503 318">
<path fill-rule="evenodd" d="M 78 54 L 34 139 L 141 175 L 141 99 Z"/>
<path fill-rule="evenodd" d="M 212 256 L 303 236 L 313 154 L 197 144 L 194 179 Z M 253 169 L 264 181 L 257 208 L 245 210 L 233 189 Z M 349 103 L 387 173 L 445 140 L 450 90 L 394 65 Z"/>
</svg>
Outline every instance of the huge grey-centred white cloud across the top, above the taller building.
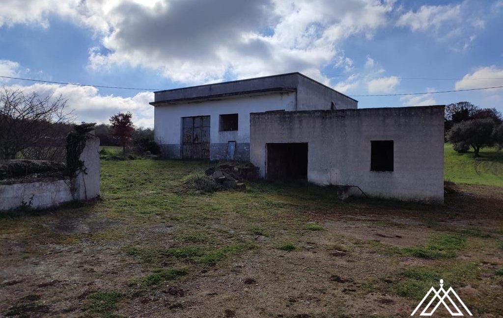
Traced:
<svg viewBox="0 0 503 318">
<path fill-rule="evenodd" d="M 339 49 L 350 36 L 371 37 L 394 0 L 6 0 L 0 26 L 49 26 L 58 16 L 101 40 L 95 70 L 127 64 L 185 83 L 323 67 L 352 67 Z M 328 78 L 319 78 L 328 82 Z"/>
</svg>

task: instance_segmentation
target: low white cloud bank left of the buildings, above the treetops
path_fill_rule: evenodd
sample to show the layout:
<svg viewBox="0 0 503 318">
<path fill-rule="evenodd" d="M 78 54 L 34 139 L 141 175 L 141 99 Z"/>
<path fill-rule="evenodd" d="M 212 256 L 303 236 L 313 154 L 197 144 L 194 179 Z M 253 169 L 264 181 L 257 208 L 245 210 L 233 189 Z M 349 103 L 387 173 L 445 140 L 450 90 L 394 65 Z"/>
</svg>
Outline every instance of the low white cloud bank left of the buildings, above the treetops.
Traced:
<svg viewBox="0 0 503 318">
<path fill-rule="evenodd" d="M 68 110 L 74 110 L 77 121 L 108 124 L 110 116 L 130 111 L 136 126 L 153 127 L 153 107 L 148 104 L 154 98 L 152 92 L 139 92 L 133 97 L 121 97 L 102 95 L 98 88 L 91 86 L 37 83 L 29 86 L 10 85 L 7 88 L 20 89 L 27 93 L 36 91 L 43 96 L 62 95 L 68 99 Z"/>
</svg>

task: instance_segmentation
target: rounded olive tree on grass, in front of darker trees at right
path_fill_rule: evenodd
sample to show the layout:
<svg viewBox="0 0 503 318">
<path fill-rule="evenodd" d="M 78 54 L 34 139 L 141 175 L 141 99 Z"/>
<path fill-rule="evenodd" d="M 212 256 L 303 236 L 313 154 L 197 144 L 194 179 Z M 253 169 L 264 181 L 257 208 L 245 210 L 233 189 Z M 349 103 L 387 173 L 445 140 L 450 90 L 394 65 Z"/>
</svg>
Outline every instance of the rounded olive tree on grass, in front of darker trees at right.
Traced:
<svg viewBox="0 0 503 318">
<path fill-rule="evenodd" d="M 473 148 L 475 157 L 483 147 L 493 146 L 494 121 L 490 118 L 473 119 L 455 124 L 449 131 L 448 140 L 454 144 L 466 143 Z"/>
</svg>

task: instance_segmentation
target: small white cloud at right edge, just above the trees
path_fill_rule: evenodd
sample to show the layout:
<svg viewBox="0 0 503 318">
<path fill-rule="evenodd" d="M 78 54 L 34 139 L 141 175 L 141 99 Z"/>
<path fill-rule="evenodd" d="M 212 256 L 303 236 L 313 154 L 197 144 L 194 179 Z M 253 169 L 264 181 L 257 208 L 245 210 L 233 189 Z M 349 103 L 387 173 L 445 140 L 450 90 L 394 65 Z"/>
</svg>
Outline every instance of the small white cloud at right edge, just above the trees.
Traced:
<svg viewBox="0 0 503 318">
<path fill-rule="evenodd" d="M 476 69 L 473 73 L 463 76 L 455 84 L 456 89 L 470 89 L 480 87 L 492 87 L 503 85 L 503 69 L 496 66 L 486 66 Z M 488 92 L 501 91 L 503 89 L 490 89 Z"/>
</svg>

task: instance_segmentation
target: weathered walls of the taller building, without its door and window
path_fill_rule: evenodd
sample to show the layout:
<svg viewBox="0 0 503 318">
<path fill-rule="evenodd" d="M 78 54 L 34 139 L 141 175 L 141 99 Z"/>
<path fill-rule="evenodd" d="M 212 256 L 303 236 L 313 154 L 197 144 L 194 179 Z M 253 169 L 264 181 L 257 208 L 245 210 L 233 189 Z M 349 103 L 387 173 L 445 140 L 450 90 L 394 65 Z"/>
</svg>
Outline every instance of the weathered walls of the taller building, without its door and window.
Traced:
<svg viewBox="0 0 503 318">
<path fill-rule="evenodd" d="M 290 89 L 291 92 L 265 92 Z M 260 93 L 258 91 L 263 90 Z M 254 93 L 247 93 L 254 91 Z M 243 93 L 241 95 L 233 95 Z M 211 96 L 219 97 L 211 97 Z M 210 97 L 208 97 L 210 96 Z M 193 100 L 190 100 L 190 99 Z M 165 102 L 162 102 L 165 101 Z M 358 101 L 300 73 L 289 73 L 225 83 L 155 92 L 154 132 L 167 158 L 181 158 L 182 117 L 211 116 L 210 159 L 224 159 L 227 143 L 236 141 L 236 160 L 249 159 L 249 114 L 275 110 L 356 109 Z M 219 115 L 239 114 L 236 132 L 218 130 Z"/>
</svg>

